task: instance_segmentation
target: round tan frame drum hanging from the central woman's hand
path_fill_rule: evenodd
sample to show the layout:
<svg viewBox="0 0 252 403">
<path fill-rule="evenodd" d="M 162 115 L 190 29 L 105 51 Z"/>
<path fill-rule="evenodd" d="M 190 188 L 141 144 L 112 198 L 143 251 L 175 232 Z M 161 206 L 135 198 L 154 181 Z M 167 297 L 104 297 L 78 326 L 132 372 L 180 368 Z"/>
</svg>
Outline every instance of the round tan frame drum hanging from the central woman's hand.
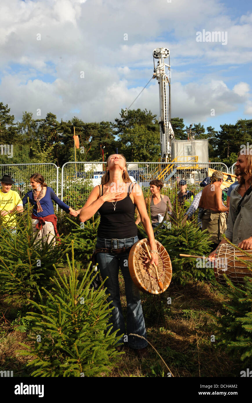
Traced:
<svg viewBox="0 0 252 403">
<path fill-rule="evenodd" d="M 156 246 L 159 252 L 158 267 L 150 264 L 150 244 L 147 238 L 134 243 L 129 252 L 129 273 L 133 283 L 141 291 L 150 294 L 165 292 L 171 283 L 171 259 L 160 242 L 156 241 Z"/>
</svg>

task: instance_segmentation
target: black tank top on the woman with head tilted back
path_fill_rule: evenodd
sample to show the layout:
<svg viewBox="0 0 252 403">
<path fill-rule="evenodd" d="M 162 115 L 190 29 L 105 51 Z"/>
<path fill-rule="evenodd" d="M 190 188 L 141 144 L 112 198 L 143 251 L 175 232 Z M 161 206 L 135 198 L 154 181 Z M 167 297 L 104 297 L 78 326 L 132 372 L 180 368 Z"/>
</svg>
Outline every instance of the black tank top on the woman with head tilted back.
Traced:
<svg viewBox="0 0 252 403">
<path fill-rule="evenodd" d="M 112 202 L 104 202 L 99 208 L 98 212 L 100 213 L 101 220 L 98 226 L 98 237 L 124 239 L 137 236 L 135 204 L 129 196 L 134 185 L 135 183 L 129 184 L 127 196 L 122 200 L 118 200 L 116 206 L 115 202 L 113 204 Z M 103 195 L 103 185 L 100 195 Z"/>
</svg>

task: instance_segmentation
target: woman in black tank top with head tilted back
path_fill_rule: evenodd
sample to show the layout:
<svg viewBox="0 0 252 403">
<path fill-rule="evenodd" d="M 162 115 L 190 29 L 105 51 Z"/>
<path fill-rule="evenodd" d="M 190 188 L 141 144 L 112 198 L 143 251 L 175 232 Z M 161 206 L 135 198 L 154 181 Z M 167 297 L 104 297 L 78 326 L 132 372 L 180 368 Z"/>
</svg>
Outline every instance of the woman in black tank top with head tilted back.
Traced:
<svg viewBox="0 0 252 403">
<path fill-rule="evenodd" d="M 131 182 L 125 157 L 122 154 L 112 154 L 106 162 L 106 173 L 102 177 L 101 185 L 94 187 L 90 193 L 80 211 L 79 219 L 84 222 L 97 211 L 100 213 L 96 262 L 102 279 L 105 280 L 108 277 L 104 284 L 107 287 L 107 301 L 111 302 L 110 306 L 115 307 L 111 312 L 109 323 L 112 323 L 112 332 L 117 330 L 117 335 L 121 335 L 119 342 L 123 343 L 125 324 L 118 279 L 119 268 L 121 268 L 127 299 L 128 345 L 135 349 L 137 355 L 145 357 L 148 355 L 147 341 L 140 337 L 129 336 L 130 333 L 134 333 L 146 339 L 140 293 L 131 279 L 128 268 L 129 250 L 138 241 L 134 219 L 135 207 L 150 242 L 150 263 L 158 264 L 157 247 L 142 189 L 137 183 Z"/>
</svg>

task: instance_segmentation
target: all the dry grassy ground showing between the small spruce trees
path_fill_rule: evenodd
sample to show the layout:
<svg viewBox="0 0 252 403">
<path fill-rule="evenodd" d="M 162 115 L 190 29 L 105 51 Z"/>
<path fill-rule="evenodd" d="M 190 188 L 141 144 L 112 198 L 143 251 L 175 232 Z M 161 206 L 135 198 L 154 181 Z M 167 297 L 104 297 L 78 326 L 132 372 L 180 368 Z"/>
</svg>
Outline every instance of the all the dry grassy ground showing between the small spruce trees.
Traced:
<svg viewBox="0 0 252 403">
<path fill-rule="evenodd" d="M 126 320 L 127 305 L 121 275 L 119 283 Z M 167 297 L 171 297 L 171 304 L 167 304 Z M 216 284 L 199 281 L 191 281 L 185 286 L 171 284 L 164 294 L 142 294 L 141 298 L 148 341 L 157 349 L 174 376 L 224 377 L 240 373 L 241 362 L 231 359 L 215 342 L 210 341 L 216 318 L 224 314 L 223 302 L 228 301 Z M 27 358 L 17 353 L 19 342 L 27 343 L 25 323 L 19 312 L 18 304 L 9 307 L 2 297 L 0 368 L 13 370 L 14 376 L 29 376 L 25 366 Z M 125 346 L 117 367 L 104 376 L 167 376 L 168 370 L 160 357 L 150 346 L 148 351 L 149 357 L 142 360 Z"/>
</svg>

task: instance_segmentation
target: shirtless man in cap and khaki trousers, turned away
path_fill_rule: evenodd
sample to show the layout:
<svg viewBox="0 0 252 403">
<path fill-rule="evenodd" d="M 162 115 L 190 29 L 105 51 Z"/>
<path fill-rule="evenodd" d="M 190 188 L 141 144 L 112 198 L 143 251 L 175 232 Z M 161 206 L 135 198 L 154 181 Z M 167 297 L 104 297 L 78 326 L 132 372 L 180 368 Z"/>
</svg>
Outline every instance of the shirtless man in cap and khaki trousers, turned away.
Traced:
<svg viewBox="0 0 252 403">
<path fill-rule="evenodd" d="M 214 250 L 222 235 L 227 228 L 226 215 L 224 214 L 229 209 L 223 205 L 221 195 L 221 184 L 223 183 L 223 173 L 215 171 L 212 174 L 210 184 L 204 187 L 200 198 L 199 207 L 203 208 L 202 213 L 202 231 L 208 230 L 212 234 L 210 240 L 212 241 L 212 250 Z"/>
</svg>

